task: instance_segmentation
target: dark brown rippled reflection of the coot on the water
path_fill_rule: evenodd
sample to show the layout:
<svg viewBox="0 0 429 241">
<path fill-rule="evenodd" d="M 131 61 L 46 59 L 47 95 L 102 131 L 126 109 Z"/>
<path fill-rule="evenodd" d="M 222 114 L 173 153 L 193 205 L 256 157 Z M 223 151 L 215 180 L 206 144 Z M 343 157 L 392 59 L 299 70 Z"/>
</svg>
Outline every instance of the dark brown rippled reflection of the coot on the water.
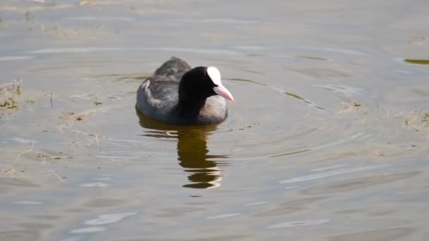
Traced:
<svg viewBox="0 0 429 241">
<path fill-rule="evenodd" d="M 207 137 L 217 129 L 216 125 L 181 126 L 168 125 L 147 118 L 135 109 L 140 125 L 145 128 L 145 136 L 177 139 L 177 160 L 183 171 L 188 173 L 189 183 L 183 187 L 219 187 L 222 169 L 214 159 L 227 159 L 228 155 L 211 155 L 207 147 Z"/>
</svg>

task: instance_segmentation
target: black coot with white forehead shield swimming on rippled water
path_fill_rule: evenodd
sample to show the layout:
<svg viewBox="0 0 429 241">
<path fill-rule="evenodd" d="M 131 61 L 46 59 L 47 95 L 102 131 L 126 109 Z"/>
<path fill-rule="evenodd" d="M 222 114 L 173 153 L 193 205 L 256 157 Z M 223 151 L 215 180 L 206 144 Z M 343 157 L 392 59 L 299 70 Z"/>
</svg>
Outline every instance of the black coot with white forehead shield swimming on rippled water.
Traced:
<svg viewBox="0 0 429 241">
<path fill-rule="evenodd" d="M 138 87 L 137 109 L 174 125 L 210 125 L 226 119 L 225 99 L 234 101 L 215 67 L 192 68 L 172 57 Z"/>
</svg>

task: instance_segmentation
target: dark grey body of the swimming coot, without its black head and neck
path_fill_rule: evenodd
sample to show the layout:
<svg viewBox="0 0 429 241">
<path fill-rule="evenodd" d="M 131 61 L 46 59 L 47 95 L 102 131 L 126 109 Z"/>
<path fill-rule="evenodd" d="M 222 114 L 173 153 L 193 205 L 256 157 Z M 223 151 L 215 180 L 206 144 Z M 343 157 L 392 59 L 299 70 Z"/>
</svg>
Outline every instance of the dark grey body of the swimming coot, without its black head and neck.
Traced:
<svg viewBox="0 0 429 241">
<path fill-rule="evenodd" d="M 186 104 L 179 101 L 179 85 L 189 70 L 191 66 L 176 57 L 162 64 L 138 87 L 137 109 L 149 118 L 176 125 L 207 125 L 224 121 L 227 116 L 226 103 L 219 95 L 204 98 L 199 107 L 190 101 Z M 191 84 L 188 88 L 193 86 Z M 198 91 L 191 89 L 190 92 L 198 94 Z"/>
</svg>

